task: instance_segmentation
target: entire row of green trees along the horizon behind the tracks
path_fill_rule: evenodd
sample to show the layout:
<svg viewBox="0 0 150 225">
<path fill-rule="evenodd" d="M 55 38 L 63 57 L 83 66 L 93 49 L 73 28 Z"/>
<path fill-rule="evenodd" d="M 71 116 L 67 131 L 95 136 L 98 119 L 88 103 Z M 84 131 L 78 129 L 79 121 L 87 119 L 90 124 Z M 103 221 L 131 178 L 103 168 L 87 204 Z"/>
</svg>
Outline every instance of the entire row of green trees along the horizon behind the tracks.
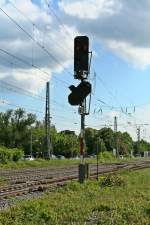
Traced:
<svg viewBox="0 0 150 225">
<path fill-rule="evenodd" d="M 58 132 L 55 126 L 50 129 L 51 147 L 54 155 L 75 157 L 79 155 L 79 136 L 73 131 Z M 32 142 L 32 143 L 31 143 Z M 41 156 L 45 148 L 44 121 L 38 121 L 36 115 L 26 113 L 24 109 L 7 110 L 0 113 L 0 146 L 22 149 L 25 154 L 32 152 Z M 127 132 L 114 133 L 111 128 L 96 130 L 85 129 L 86 154 L 96 154 L 96 150 L 112 152 L 114 148 L 121 155 L 129 155 L 150 151 L 150 143 L 141 140 L 133 141 Z"/>
</svg>

